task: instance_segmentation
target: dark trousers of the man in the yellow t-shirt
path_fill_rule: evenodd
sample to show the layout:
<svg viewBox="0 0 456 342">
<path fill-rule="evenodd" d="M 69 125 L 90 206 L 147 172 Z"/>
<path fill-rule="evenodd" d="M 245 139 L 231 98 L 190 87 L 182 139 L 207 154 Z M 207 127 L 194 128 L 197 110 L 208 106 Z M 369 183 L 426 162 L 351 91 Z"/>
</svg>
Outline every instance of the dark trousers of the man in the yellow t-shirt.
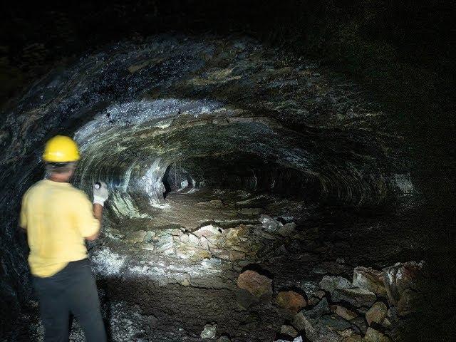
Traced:
<svg viewBox="0 0 456 342">
<path fill-rule="evenodd" d="M 33 277 L 40 304 L 45 342 L 66 342 L 70 314 L 78 320 L 87 342 L 106 341 L 100 301 L 88 259 L 70 262 L 48 278 Z"/>
</svg>

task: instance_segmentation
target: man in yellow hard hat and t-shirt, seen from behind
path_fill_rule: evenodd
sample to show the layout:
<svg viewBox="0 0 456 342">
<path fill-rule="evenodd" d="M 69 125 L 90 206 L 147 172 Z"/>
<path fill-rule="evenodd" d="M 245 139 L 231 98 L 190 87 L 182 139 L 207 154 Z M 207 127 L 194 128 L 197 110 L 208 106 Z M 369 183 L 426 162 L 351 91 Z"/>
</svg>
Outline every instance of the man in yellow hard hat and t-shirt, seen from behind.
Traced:
<svg viewBox="0 0 456 342">
<path fill-rule="evenodd" d="M 87 195 L 69 183 L 80 159 L 78 145 L 57 135 L 46 143 L 46 178 L 30 187 L 23 199 L 19 225 L 26 229 L 28 264 L 38 297 L 45 342 L 68 341 L 72 314 L 88 342 L 106 341 L 95 279 L 85 240 L 100 234 L 104 182 Z"/>
</svg>

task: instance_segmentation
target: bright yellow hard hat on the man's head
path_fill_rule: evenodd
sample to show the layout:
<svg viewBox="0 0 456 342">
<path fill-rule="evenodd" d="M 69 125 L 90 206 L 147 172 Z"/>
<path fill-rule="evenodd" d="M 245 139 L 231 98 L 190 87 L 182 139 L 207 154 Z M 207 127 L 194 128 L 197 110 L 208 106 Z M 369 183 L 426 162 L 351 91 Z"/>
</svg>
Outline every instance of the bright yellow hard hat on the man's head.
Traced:
<svg viewBox="0 0 456 342">
<path fill-rule="evenodd" d="M 64 135 L 56 135 L 48 140 L 44 147 L 45 162 L 76 162 L 80 158 L 76 142 Z"/>
</svg>

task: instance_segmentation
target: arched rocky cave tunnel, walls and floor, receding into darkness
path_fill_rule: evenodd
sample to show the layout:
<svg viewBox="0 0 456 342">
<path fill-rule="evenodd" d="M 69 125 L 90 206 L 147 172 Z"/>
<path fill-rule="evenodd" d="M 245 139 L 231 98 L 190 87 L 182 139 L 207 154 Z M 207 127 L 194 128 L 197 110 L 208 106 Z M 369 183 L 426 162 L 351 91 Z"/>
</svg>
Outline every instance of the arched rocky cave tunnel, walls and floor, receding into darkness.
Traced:
<svg viewBox="0 0 456 342">
<path fill-rule="evenodd" d="M 43 338 L 17 216 L 56 134 L 81 150 L 73 186 L 108 186 L 87 247 L 109 341 L 427 338 L 444 248 L 413 140 L 370 91 L 244 32 L 134 36 L 52 68 L 2 109 L 0 339 Z"/>
</svg>

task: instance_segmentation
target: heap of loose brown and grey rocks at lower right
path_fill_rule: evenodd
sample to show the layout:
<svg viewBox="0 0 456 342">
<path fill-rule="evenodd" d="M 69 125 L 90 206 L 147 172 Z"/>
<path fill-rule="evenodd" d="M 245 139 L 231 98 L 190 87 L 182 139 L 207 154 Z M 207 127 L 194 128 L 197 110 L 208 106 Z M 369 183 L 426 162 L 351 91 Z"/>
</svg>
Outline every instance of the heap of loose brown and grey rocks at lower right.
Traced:
<svg viewBox="0 0 456 342">
<path fill-rule="evenodd" d="M 274 304 L 294 312 L 294 317 L 291 323 L 287 323 L 284 316 L 285 321 L 279 331 L 282 339 L 277 341 L 296 341 L 296 338 L 306 338 L 304 341 L 311 342 L 392 341 L 391 327 L 400 319 L 396 314 L 400 308 L 395 305 L 400 304 L 403 296 L 408 296 L 410 286 L 418 283 L 420 265 L 423 266 L 414 262 L 395 264 L 383 269 L 383 273 L 356 267 L 353 281 L 343 276 L 323 276 L 319 285 L 324 291 L 319 290 L 318 296 L 313 296 L 319 301 L 311 307 L 307 306 L 301 294 L 279 291 Z M 380 274 L 386 277 L 380 277 Z M 238 285 L 246 288 L 246 279 L 252 279 L 249 283 L 253 287 L 249 288 L 251 293 L 261 293 L 264 284 L 267 284 L 267 291 L 272 289 L 269 287 L 272 279 L 268 280 L 255 271 L 240 274 Z M 386 296 L 386 288 L 388 294 L 395 296 L 393 300 Z"/>
</svg>

